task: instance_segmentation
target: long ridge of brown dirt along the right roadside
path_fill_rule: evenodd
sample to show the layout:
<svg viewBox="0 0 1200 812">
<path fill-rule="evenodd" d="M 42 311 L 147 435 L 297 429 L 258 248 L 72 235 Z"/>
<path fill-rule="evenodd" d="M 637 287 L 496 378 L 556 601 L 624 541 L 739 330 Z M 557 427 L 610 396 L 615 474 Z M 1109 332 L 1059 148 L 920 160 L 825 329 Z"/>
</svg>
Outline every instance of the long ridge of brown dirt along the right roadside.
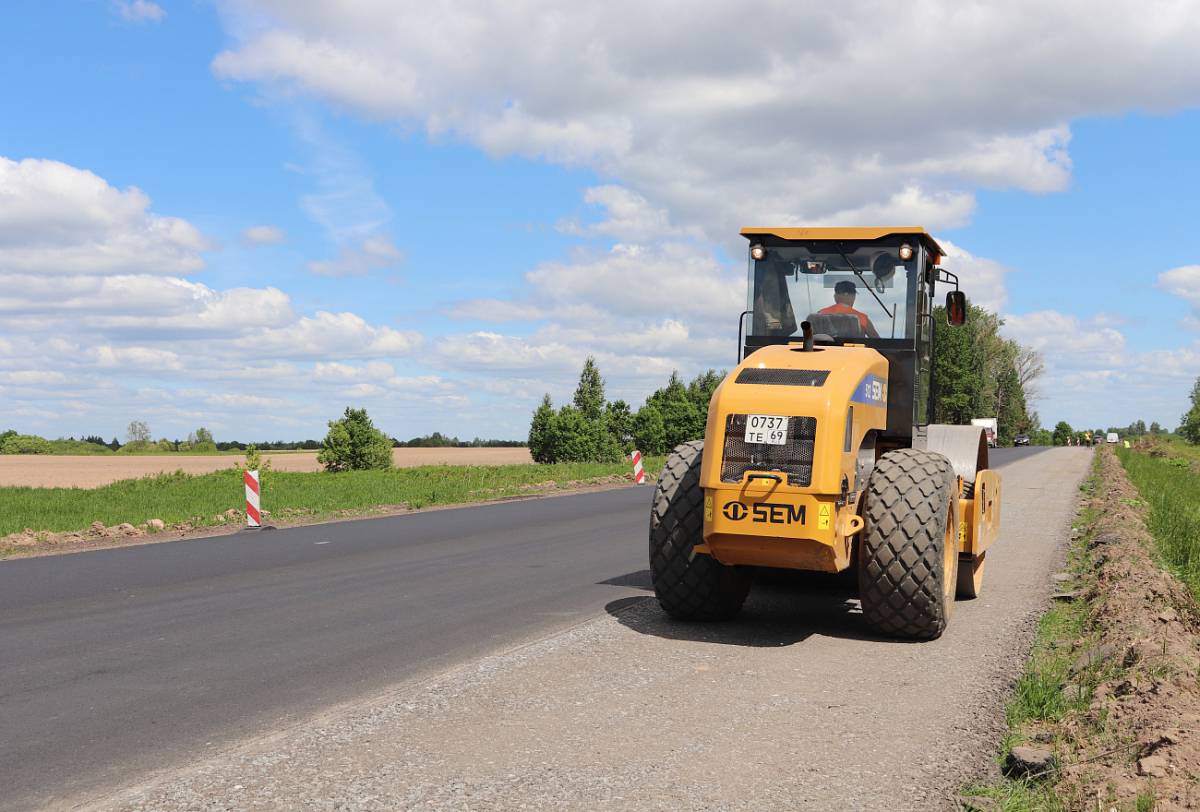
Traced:
<svg viewBox="0 0 1200 812">
<path fill-rule="evenodd" d="M 1100 680 L 1087 711 L 1063 726 L 1078 751 L 1060 794 L 1090 810 L 1151 796 L 1159 812 L 1200 808 L 1200 614 L 1152 559 L 1145 503 L 1116 456 L 1102 452 L 1090 542 L 1096 637 L 1078 656 Z"/>
</svg>

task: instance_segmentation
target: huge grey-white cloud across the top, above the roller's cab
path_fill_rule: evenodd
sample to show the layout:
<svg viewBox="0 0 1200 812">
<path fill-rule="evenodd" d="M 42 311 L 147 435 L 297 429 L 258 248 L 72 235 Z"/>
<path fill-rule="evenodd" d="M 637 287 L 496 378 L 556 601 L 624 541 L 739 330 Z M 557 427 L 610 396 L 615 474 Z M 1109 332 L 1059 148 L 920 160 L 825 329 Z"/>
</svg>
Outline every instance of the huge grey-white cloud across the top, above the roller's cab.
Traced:
<svg viewBox="0 0 1200 812">
<path fill-rule="evenodd" d="M 1188 4 L 232 0 L 224 10 L 238 44 L 214 60 L 218 77 L 496 156 L 586 164 L 653 217 L 670 212 L 709 237 L 745 222 L 834 217 L 960 224 L 978 186 L 1064 188 L 1067 122 L 1181 109 L 1200 95 L 1189 56 L 1200 16 Z M 632 239 L 637 223 L 611 222 Z"/>
</svg>

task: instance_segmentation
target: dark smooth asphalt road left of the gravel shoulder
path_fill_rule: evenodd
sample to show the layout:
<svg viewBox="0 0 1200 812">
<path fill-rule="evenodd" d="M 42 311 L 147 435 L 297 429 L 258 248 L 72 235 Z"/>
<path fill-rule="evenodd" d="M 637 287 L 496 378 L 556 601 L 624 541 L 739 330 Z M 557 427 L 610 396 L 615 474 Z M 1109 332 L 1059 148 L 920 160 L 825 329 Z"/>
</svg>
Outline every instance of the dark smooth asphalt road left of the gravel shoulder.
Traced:
<svg viewBox="0 0 1200 812">
<path fill-rule="evenodd" d="M 644 595 L 649 495 L 2 561 L 0 807 L 126 786 Z"/>
</svg>

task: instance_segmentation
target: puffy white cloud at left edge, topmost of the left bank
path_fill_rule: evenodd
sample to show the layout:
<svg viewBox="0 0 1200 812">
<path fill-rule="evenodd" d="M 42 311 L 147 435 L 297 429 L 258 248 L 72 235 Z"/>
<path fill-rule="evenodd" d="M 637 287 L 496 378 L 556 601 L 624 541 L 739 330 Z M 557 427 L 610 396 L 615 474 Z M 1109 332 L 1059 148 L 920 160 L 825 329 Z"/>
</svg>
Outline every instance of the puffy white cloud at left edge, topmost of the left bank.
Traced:
<svg viewBox="0 0 1200 812">
<path fill-rule="evenodd" d="M 178 217 L 148 211 L 138 188 L 124 192 L 84 169 L 0 156 L 0 273 L 179 275 L 204 266 L 209 247 Z"/>
</svg>

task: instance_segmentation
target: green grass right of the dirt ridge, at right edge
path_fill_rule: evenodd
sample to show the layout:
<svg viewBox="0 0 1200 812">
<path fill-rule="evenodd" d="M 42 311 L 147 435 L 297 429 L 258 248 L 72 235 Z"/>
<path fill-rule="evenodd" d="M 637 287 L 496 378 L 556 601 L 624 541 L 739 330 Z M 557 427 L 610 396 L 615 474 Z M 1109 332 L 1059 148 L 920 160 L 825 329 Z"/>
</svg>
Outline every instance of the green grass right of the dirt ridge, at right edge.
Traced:
<svg viewBox="0 0 1200 812">
<path fill-rule="evenodd" d="M 1126 474 L 1150 507 L 1147 527 L 1159 560 L 1200 600 L 1200 449 L 1164 443 L 1165 457 L 1117 449 Z"/>
</svg>

